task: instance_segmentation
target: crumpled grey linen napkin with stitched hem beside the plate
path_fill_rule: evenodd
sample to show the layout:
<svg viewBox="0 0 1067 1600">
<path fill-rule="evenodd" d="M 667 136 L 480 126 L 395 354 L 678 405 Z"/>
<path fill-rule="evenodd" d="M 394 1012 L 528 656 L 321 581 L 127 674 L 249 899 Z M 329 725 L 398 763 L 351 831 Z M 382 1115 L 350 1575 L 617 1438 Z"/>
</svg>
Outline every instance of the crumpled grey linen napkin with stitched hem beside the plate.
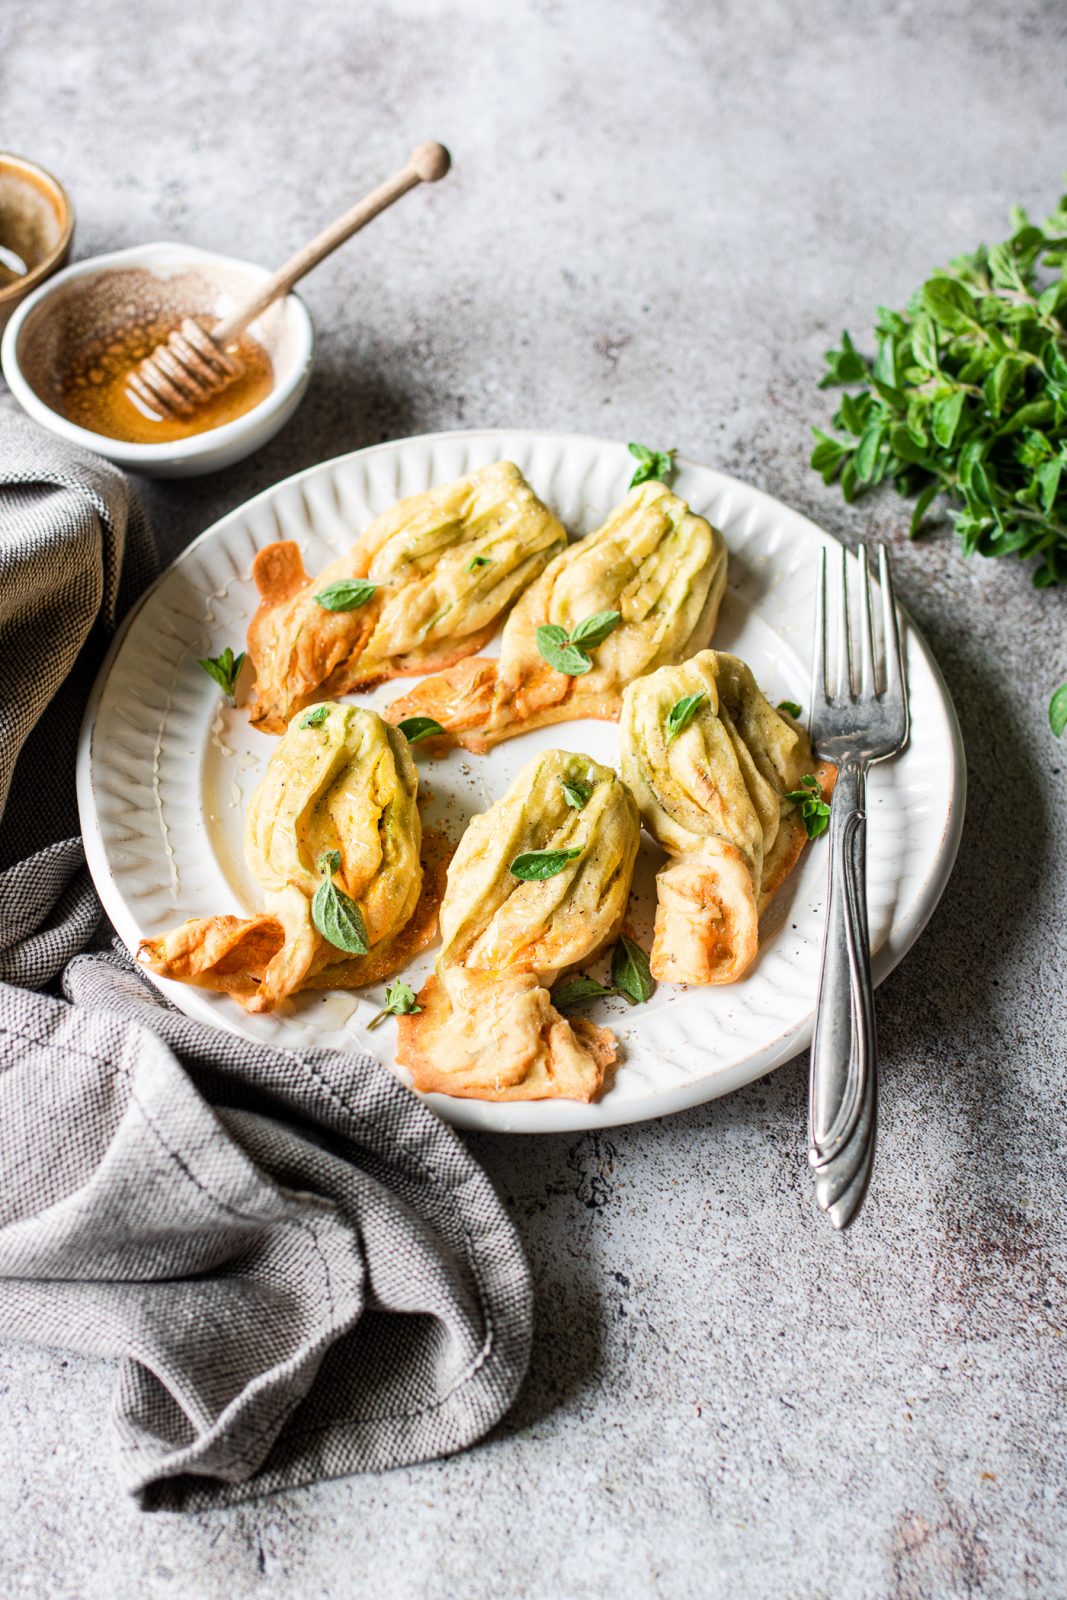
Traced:
<svg viewBox="0 0 1067 1600">
<path fill-rule="evenodd" d="M 533 1312 L 490 1181 L 371 1056 L 192 1022 L 101 938 L 74 752 L 154 560 L 122 474 L 0 413 L 0 1334 L 117 1357 L 122 1482 L 176 1510 L 462 1450 Z"/>
</svg>

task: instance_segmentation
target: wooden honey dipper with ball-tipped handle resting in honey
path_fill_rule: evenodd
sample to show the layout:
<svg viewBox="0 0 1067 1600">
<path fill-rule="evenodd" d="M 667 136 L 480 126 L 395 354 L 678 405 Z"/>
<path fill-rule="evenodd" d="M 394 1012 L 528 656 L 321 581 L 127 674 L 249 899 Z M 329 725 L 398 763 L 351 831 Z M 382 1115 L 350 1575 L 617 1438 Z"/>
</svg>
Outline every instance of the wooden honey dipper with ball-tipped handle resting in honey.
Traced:
<svg viewBox="0 0 1067 1600">
<path fill-rule="evenodd" d="M 242 365 L 226 349 L 267 306 L 288 294 L 294 283 L 317 267 L 338 245 L 366 227 L 381 211 L 406 195 L 418 184 L 435 184 L 451 166 L 443 144 L 416 144 L 405 166 L 384 184 L 371 189 L 336 222 L 304 245 L 302 250 L 269 277 L 237 310 L 214 328 L 205 328 L 186 317 L 165 344 L 158 344 L 126 378 L 130 398 L 157 416 L 194 416 L 197 406 L 219 394 L 240 376 Z"/>
</svg>

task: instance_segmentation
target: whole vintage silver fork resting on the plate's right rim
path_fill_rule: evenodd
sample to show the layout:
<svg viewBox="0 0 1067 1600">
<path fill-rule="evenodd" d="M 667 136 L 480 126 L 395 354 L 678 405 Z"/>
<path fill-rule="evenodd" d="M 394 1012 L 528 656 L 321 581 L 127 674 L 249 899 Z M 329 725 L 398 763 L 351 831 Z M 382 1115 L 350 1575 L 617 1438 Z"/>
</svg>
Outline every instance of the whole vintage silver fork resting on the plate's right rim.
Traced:
<svg viewBox="0 0 1067 1600">
<path fill-rule="evenodd" d="M 877 651 L 870 563 L 859 550 L 859 651 L 849 626 L 848 558 L 835 608 L 827 606 L 827 552 L 819 563 L 811 661 L 811 742 L 837 766 L 830 803 L 830 864 L 816 1022 L 811 1038 L 808 1160 L 816 1202 L 848 1227 L 867 1194 L 875 1152 L 878 1064 L 867 931 L 867 768 L 907 744 L 907 685 L 889 555 L 878 546 L 881 650 Z M 837 611 L 837 675 L 827 677 L 830 611 Z M 859 680 L 854 661 L 859 654 Z"/>
</svg>

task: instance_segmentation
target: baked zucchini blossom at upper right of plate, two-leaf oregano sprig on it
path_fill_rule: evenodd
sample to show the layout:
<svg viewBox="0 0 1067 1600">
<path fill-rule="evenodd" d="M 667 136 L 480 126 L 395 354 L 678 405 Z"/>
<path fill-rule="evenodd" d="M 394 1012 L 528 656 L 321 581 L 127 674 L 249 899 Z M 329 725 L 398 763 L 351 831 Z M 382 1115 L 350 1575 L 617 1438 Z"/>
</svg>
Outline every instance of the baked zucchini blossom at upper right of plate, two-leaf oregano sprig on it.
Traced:
<svg viewBox="0 0 1067 1600">
<path fill-rule="evenodd" d="M 725 587 L 721 533 L 664 483 L 641 483 L 526 589 L 499 661 L 426 678 L 386 715 L 432 717 L 435 746 L 477 752 L 547 723 L 614 722 L 627 683 L 709 643 Z"/>
</svg>

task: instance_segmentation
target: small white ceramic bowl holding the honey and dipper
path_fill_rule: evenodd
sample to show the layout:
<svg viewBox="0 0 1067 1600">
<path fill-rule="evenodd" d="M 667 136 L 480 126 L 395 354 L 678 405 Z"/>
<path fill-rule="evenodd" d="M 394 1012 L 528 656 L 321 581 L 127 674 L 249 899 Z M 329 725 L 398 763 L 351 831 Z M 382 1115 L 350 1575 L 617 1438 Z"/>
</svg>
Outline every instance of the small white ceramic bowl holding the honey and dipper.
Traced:
<svg viewBox="0 0 1067 1600">
<path fill-rule="evenodd" d="M 155 478 L 218 472 L 274 438 L 301 403 L 315 360 L 315 330 L 298 294 L 286 294 L 250 325 L 251 338 L 270 355 L 274 387 L 266 400 L 221 427 L 168 443 L 133 445 L 69 422 L 42 398 L 42 373 L 50 362 L 54 365 L 64 339 L 75 341 L 90 331 L 94 304 L 99 307 L 104 301 L 114 302 L 115 290 L 125 288 L 123 280 L 115 280 L 115 275 L 131 270 L 162 282 L 195 277 L 203 288 L 203 304 L 198 302 L 195 309 L 200 315 L 214 317 L 224 317 L 269 277 L 266 267 L 251 261 L 235 261 L 232 256 L 197 250 L 195 245 L 168 242 L 134 245 L 131 250 L 115 250 L 107 256 L 75 262 L 29 294 L 3 333 L 3 374 L 22 410 L 59 438 L 93 450 L 118 467 Z M 136 283 L 133 275 L 130 283 Z"/>
</svg>

